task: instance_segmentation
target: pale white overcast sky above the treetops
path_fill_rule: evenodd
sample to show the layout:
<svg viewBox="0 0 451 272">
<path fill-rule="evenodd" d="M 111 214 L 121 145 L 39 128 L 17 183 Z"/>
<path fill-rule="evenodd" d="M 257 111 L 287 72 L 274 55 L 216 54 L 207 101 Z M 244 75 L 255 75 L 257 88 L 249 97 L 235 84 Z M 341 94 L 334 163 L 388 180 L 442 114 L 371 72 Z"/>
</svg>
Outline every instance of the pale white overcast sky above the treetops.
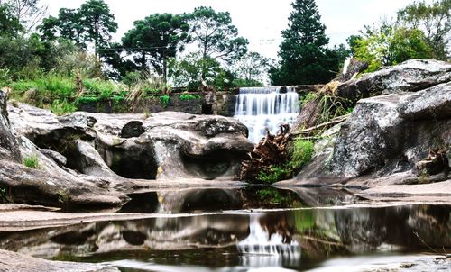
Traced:
<svg viewBox="0 0 451 272">
<path fill-rule="evenodd" d="M 49 5 L 49 13 L 56 16 L 62 7 L 78 8 L 85 0 L 41 0 Z M 189 13 L 195 7 L 213 7 L 216 12 L 227 11 L 241 36 L 248 39 L 249 50 L 276 59 L 281 44 L 281 31 L 288 26 L 292 0 L 105 0 L 119 24 L 114 41 L 129 29 L 133 22 L 156 13 Z M 347 37 L 358 33 L 365 24 L 382 18 L 396 17 L 396 11 L 414 0 L 317 0 L 322 23 L 330 44 L 345 43 Z M 430 2 L 430 0 L 429 0 Z"/>
</svg>

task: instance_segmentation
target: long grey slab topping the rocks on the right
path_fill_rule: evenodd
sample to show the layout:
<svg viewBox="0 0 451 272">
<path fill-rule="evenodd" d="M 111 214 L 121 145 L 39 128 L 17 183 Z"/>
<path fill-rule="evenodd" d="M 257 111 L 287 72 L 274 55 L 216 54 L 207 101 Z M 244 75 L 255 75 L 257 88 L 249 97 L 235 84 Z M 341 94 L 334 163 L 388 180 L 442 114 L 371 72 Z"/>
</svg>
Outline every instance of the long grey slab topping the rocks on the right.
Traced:
<svg viewBox="0 0 451 272">
<path fill-rule="evenodd" d="M 431 59 L 410 59 L 347 81 L 337 87 L 336 94 L 357 101 L 373 95 L 416 92 L 450 80 L 451 64 Z"/>
</svg>

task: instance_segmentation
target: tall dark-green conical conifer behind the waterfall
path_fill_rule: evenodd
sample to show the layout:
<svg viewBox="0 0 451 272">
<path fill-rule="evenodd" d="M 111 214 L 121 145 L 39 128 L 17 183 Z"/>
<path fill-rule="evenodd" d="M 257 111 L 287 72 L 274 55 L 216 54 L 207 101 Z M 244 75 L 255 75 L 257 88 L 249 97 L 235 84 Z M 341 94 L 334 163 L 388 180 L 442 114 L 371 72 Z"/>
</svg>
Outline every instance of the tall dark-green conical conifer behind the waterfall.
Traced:
<svg viewBox="0 0 451 272">
<path fill-rule="evenodd" d="M 336 76 L 338 59 L 326 47 L 326 26 L 320 21 L 315 0 L 296 0 L 291 5 L 294 11 L 289 27 L 282 31 L 280 67 L 270 70 L 272 84 L 325 83 Z"/>
</svg>

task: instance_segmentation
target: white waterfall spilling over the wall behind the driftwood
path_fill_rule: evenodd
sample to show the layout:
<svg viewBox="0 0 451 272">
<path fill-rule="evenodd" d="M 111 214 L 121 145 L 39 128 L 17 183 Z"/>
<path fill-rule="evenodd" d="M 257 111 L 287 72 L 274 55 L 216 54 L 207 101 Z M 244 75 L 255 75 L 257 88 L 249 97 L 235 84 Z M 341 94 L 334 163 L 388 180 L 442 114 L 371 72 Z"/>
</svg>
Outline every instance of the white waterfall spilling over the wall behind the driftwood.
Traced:
<svg viewBox="0 0 451 272">
<path fill-rule="evenodd" d="M 298 114 L 299 95 L 293 88 L 281 93 L 281 87 L 247 87 L 236 97 L 234 117 L 247 126 L 255 143 L 266 130 L 275 134 L 281 123 L 292 125 Z"/>
</svg>

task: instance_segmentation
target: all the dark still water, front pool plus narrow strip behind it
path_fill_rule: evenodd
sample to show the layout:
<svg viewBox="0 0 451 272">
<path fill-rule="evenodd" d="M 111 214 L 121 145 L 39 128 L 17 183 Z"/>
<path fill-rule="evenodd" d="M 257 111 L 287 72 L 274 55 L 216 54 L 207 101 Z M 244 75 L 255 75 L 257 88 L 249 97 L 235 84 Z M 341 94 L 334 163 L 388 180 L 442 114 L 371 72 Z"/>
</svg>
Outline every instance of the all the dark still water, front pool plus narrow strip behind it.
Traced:
<svg viewBox="0 0 451 272">
<path fill-rule="evenodd" d="M 4 232 L 0 249 L 106 262 L 123 271 L 347 271 L 355 264 L 409 261 L 418 253 L 451 249 L 449 205 L 343 207 L 359 199 L 321 189 L 189 189 L 132 196 L 121 212 L 156 213 L 155 218 Z M 445 260 L 436 268 L 451 266 Z"/>
</svg>

